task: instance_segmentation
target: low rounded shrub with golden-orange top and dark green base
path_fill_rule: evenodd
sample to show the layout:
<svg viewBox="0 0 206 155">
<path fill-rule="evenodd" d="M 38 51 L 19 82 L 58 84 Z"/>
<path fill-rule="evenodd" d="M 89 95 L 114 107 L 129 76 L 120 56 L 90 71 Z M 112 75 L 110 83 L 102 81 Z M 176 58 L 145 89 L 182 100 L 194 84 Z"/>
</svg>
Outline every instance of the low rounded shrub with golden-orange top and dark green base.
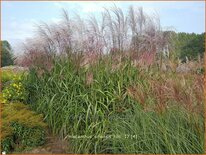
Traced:
<svg viewBox="0 0 206 155">
<path fill-rule="evenodd" d="M 22 103 L 2 104 L 1 148 L 7 153 L 40 146 L 45 141 L 42 115 Z"/>
</svg>

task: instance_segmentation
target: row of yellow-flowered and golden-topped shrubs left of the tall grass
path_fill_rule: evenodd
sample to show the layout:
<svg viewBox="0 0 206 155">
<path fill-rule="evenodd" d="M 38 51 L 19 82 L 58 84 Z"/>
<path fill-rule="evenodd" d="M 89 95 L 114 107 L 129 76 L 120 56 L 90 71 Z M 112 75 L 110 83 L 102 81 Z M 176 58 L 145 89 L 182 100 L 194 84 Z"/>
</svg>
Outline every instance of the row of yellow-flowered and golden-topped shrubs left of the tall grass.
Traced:
<svg viewBox="0 0 206 155">
<path fill-rule="evenodd" d="M 1 152 L 20 152 L 45 142 L 43 116 L 26 104 L 28 93 L 23 79 L 26 74 L 2 70 Z"/>
</svg>

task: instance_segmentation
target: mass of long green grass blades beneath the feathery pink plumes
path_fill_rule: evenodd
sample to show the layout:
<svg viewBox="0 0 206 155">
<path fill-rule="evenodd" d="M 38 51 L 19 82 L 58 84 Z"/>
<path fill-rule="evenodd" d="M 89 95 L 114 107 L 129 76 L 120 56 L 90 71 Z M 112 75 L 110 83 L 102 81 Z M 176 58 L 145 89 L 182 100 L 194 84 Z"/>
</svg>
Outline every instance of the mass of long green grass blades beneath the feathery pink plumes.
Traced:
<svg viewBox="0 0 206 155">
<path fill-rule="evenodd" d="M 29 103 L 53 133 L 68 138 L 73 153 L 203 153 L 203 114 L 194 112 L 203 100 L 192 91 L 193 77 L 182 84 L 174 73 L 125 61 L 108 57 L 79 68 L 57 60 L 50 72 L 31 70 Z"/>
</svg>

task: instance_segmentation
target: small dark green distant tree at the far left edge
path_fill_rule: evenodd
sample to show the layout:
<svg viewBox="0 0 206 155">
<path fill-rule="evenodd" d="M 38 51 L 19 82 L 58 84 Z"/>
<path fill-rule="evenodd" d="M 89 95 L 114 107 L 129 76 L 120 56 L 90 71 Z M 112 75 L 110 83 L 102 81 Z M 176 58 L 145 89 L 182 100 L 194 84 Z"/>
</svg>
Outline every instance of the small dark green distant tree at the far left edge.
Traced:
<svg viewBox="0 0 206 155">
<path fill-rule="evenodd" d="M 14 64 L 13 53 L 8 41 L 1 41 L 1 67 Z"/>
</svg>

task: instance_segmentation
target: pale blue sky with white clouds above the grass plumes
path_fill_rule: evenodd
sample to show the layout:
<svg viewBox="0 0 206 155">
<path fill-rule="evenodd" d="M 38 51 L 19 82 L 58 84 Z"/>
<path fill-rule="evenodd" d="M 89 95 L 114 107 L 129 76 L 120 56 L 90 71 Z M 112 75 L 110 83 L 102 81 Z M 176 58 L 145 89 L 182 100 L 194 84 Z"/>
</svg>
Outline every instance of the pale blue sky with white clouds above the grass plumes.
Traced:
<svg viewBox="0 0 206 155">
<path fill-rule="evenodd" d="M 90 14 L 95 14 L 98 17 L 103 7 L 109 8 L 115 4 L 127 12 L 129 6 L 132 5 L 134 7 L 143 7 L 143 10 L 148 14 L 157 13 L 163 29 L 189 33 L 205 32 L 204 1 L 3 1 L 1 3 L 1 39 L 7 40 L 15 53 L 21 52 L 18 47 L 25 39 L 34 36 L 36 25 L 41 22 L 59 22 L 62 8 L 66 9 L 71 15 L 78 13 L 83 18 L 86 18 Z"/>
</svg>

